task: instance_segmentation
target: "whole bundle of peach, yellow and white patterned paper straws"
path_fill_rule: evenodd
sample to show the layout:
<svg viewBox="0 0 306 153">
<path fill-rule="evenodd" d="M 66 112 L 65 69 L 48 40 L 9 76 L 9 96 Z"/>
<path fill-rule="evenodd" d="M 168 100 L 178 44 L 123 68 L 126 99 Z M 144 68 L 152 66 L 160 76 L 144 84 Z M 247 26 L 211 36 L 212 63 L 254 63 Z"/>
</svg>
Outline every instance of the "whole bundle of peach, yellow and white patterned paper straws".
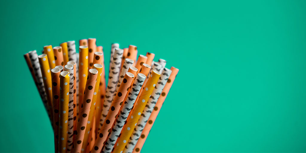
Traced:
<svg viewBox="0 0 306 153">
<path fill-rule="evenodd" d="M 108 84 L 103 47 L 96 39 L 43 47 L 24 54 L 54 130 L 55 152 L 140 152 L 178 73 L 111 46 Z"/>
</svg>

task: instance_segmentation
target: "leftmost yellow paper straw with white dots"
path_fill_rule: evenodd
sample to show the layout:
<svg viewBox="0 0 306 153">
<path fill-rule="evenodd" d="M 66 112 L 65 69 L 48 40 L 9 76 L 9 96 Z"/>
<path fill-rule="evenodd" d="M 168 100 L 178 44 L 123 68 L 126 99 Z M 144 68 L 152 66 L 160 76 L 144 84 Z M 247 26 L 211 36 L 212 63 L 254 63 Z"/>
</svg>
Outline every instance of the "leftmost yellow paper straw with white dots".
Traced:
<svg viewBox="0 0 306 153">
<path fill-rule="evenodd" d="M 38 61 L 40 65 L 40 71 L 43 76 L 43 84 L 47 94 L 48 109 L 50 110 L 51 123 L 53 125 L 53 109 L 52 109 L 52 83 L 51 83 L 51 73 L 48 63 L 47 54 L 42 54 L 38 56 Z"/>
</svg>

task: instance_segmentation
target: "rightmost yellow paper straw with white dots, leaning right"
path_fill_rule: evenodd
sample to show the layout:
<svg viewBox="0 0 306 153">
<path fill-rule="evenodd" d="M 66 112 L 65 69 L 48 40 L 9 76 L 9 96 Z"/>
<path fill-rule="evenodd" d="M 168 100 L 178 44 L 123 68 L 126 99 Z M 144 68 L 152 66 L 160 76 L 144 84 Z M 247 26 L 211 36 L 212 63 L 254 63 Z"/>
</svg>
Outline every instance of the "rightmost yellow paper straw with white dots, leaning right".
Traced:
<svg viewBox="0 0 306 153">
<path fill-rule="evenodd" d="M 140 95 L 140 99 L 137 101 L 137 104 L 132 111 L 132 115 L 127 119 L 127 122 L 124 128 L 121 131 L 121 135 L 118 137 L 117 145 L 115 144 L 115 149 L 113 152 L 123 151 L 129 137 L 131 136 L 133 129 L 135 128 L 138 119 L 140 118 L 141 112 L 144 110 L 144 107 L 147 104 L 147 101 L 152 94 L 153 89 L 159 79 L 160 73 L 158 71 L 153 71 L 152 76 L 149 78 L 149 81 L 145 85 L 145 90 Z"/>
</svg>

